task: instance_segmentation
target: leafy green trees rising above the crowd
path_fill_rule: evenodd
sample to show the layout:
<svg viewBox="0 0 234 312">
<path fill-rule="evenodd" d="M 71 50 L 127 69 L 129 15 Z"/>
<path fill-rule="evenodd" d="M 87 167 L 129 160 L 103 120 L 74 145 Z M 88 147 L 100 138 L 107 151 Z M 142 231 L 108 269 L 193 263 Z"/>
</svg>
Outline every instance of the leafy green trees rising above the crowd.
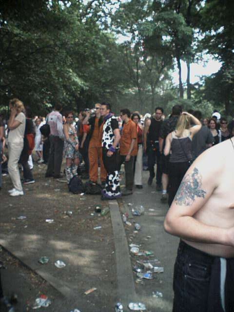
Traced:
<svg viewBox="0 0 234 312">
<path fill-rule="evenodd" d="M 101 101 L 233 115 L 233 12 L 233 0 L 1 0 L 0 110 L 17 97 L 41 115 L 56 102 L 78 112 Z M 205 55 L 222 66 L 192 85 L 190 65 Z"/>
</svg>

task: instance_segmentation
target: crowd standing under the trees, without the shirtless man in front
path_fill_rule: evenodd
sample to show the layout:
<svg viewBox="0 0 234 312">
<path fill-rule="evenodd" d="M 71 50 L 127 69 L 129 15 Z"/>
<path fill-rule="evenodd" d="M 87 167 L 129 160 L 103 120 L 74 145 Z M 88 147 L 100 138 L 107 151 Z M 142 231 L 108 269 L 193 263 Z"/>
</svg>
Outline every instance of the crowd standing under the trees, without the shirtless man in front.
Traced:
<svg viewBox="0 0 234 312">
<path fill-rule="evenodd" d="M 62 112 L 60 104 L 46 117 L 33 117 L 31 109 L 17 98 L 10 101 L 9 108 L 8 122 L 0 120 L 0 153 L 1 165 L 7 162 L 12 180 L 11 196 L 23 195 L 22 183 L 35 183 L 35 150 L 35 161 L 47 164 L 45 177 L 62 178 L 65 158 L 67 183 L 74 176 L 88 179 L 91 185 L 100 185 L 103 200 L 131 195 L 134 185 L 142 189 L 142 171 L 148 170 L 148 185 L 156 176 L 161 201 L 171 205 L 195 158 L 234 135 L 234 120 L 228 124 L 217 111 L 212 117 L 202 118 L 200 111 L 183 112 L 179 105 L 172 108 L 168 118 L 159 106 L 152 116 L 131 113 L 129 109 L 114 115 L 105 102 L 79 112 L 78 117 L 72 111 Z M 121 164 L 125 188 L 120 192 Z M 1 180 L 0 166 L 0 187 Z"/>
</svg>

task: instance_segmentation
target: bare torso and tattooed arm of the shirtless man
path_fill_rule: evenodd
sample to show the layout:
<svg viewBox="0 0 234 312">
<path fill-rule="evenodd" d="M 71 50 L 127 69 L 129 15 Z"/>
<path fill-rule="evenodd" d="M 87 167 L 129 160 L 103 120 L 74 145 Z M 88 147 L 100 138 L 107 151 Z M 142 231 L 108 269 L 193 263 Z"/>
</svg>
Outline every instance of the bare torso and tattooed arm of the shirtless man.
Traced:
<svg viewBox="0 0 234 312">
<path fill-rule="evenodd" d="M 196 249 L 221 257 L 234 257 L 233 244 L 223 239 L 225 229 L 234 228 L 232 142 L 234 138 L 219 143 L 195 160 L 164 222 L 167 232 Z"/>
</svg>

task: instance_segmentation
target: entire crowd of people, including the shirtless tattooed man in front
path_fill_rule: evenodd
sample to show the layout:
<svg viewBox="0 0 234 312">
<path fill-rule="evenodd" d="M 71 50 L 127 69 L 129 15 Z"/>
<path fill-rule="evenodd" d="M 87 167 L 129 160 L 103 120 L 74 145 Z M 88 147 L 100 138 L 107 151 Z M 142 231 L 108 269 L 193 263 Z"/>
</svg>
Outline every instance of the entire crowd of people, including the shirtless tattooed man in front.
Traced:
<svg viewBox="0 0 234 312">
<path fill-rule="evenodd" d="M 142 171 L 148 170 L 148 185 L 156 176 L 161 202 L 170 206 L 164 228 L 180 238 L 173 311 L 233 311 L 234 119 L 228 123 L 217 111 L 202 118 L 179 105 L 167 118 L 159 106 L 152 116 L 129 109 L 115 116 L 105 102 L 78 118 L 72 111 L 62 115 L 59 104 L 45 118 L 33 117 L 16 98 L 9 108 L 8 122 L 0 119 L 0 188 L 4 169 L 13 184 L 9 194 L 23 195 L 19 164 L 22 183 L 35 183 L 33 150 L 38 163 L 47 164 L 45 177 L 63 176 L 64 157 L 65 182 L 88 179 L 100 187 L 102 200 L 142 189 Z"/>
</svg>

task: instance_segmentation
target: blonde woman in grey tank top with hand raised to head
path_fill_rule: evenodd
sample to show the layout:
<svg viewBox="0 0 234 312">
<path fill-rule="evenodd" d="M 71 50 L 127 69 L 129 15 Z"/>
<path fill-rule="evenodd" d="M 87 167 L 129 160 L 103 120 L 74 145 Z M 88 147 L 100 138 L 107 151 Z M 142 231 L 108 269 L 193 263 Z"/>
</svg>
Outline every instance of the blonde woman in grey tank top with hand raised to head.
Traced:
<svg viewBox="0 0 234 312">
<path fill-rule="evenodd" d="M 195 124 L 191 127 L 190 121 Z M 192 161 L 192 138 L 201 129 L 200 121 L 193 115 L 182 112 L 176 130 L 166 137 L 164 155 L 170 155 L 168 203 L 171 206 L 180 182 Z"/>
</svg>

